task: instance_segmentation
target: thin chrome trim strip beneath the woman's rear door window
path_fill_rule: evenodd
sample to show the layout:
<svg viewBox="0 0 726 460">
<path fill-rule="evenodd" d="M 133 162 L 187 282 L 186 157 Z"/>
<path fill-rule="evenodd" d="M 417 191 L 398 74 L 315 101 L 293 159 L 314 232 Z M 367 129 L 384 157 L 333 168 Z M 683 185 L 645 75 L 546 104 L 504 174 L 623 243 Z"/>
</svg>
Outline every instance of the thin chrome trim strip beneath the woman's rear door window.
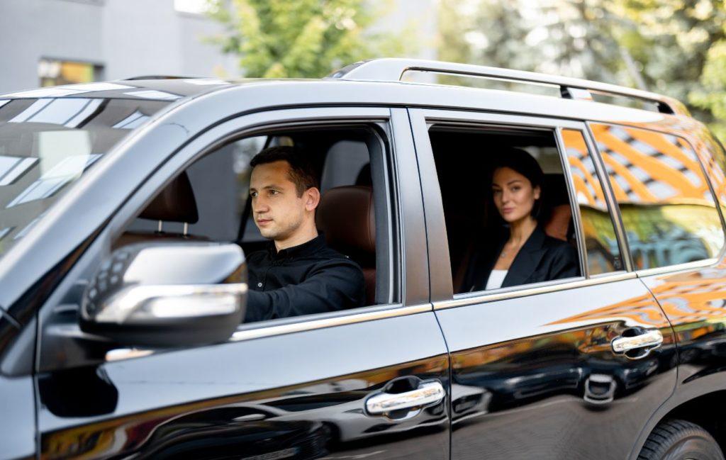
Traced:
<svg viewBox="0 0 726 460">
<path fill-rule="evenodd" d="M 463 307 L 466 305 L 476 305 L 479 303 L 495 302 L 497 300 L 515 299 L 518 297 L 529 297 L 530 295 L 545 294 L 547 292 L 566 291 L 568 289 L 576 289 L 579 287 L 595 286 L 596 284 L 605 284 L 611 282 L 622 281 L 624 279 L 635 279 L 636 275 L 632 272 L 620 271 L 613 274 L 597 276 L 596 278 L 584 279 L 579 277 L 572 281 L 555 281 L 537 284 L 534 287 L 525 287 L 506 292 L 492 292 L 491 294 L 476 295 L 473 297 L 459 297 L 454 300 L 444 300 L 442 302 L 434 302 L 434 310 L 443 310 L 445 308 Z"/>
</svg>

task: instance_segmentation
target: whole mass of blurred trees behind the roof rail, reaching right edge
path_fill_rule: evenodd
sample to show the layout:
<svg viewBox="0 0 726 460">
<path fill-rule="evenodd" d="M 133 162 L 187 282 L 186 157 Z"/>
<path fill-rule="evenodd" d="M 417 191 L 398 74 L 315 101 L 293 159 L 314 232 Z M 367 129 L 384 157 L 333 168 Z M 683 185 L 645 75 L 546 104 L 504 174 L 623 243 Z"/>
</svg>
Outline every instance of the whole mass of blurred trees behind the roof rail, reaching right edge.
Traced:
<svg viewBox="0 0 726 460">
<path fill-rule="evenodd" d="M 441 0 L 440 5 L 442 59 L 657 91 L 685 102 L 726 139 L 724 0 Z"/>
</svg>

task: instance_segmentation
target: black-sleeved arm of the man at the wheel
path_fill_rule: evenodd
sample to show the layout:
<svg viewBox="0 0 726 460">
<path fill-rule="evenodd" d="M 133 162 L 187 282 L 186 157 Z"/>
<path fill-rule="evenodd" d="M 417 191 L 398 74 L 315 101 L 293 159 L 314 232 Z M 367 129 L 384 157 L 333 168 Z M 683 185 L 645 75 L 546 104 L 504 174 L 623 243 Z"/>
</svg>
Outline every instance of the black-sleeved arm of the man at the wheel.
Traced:
<svg viewBox="0 0 726 460">
<path fill-rule="evenodd" d="M 362 307 L 363 272 L 347 259 L 319 263 L 305 281 L 271 291 L 247 292 L 245 323 Z"/>
</svg>

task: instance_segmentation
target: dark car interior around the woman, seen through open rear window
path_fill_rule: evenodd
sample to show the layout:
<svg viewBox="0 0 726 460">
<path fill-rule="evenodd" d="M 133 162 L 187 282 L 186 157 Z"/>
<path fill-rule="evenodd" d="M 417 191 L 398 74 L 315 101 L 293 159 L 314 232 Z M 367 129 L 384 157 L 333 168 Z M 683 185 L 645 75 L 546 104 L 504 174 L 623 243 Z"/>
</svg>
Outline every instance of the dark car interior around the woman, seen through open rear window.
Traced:
<svg viewBox="0 0 726 460">
<path fill-rule="evenodd" d="M 434 125 L 429 136 L 441 186 L 454 294 L 465 292 L 462 282 L 474 248 L 498 241 L 505 229 L 491 188 L 498 149 L 517 147 L 537 160 L 544 172 L 539 223 L 550 237 L 577 247 L 566 177 L 552 131 Z"/>
</svg>

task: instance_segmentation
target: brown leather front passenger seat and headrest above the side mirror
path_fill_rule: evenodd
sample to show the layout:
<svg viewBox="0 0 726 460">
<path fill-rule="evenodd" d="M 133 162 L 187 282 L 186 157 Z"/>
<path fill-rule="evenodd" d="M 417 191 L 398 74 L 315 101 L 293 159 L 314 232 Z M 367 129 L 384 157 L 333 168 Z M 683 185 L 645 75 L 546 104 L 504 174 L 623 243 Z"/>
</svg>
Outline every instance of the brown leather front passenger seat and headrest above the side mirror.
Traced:
<svg viewBox="0 0 726 460">
<path fill-rule="evenodd" d="M 139 214 L 139 218 L 152 221 L 197 223 L 199 213 L 197 212 L 197 201 L 192 191 L 192 184 L 189 182 L 187 173 L 182 172 L 174 181 L 163 189 L 152 202 Z M 193 237 L 186 233 L 174 233 L 165 231 L 126 231 L 114 242 L 114 249 L 117 247 L 131 245 L 133 243 L 155 241 L 160 239 L 182 239 L 182 240 L 206 240 L 204 237 Z"/>
</svg>

